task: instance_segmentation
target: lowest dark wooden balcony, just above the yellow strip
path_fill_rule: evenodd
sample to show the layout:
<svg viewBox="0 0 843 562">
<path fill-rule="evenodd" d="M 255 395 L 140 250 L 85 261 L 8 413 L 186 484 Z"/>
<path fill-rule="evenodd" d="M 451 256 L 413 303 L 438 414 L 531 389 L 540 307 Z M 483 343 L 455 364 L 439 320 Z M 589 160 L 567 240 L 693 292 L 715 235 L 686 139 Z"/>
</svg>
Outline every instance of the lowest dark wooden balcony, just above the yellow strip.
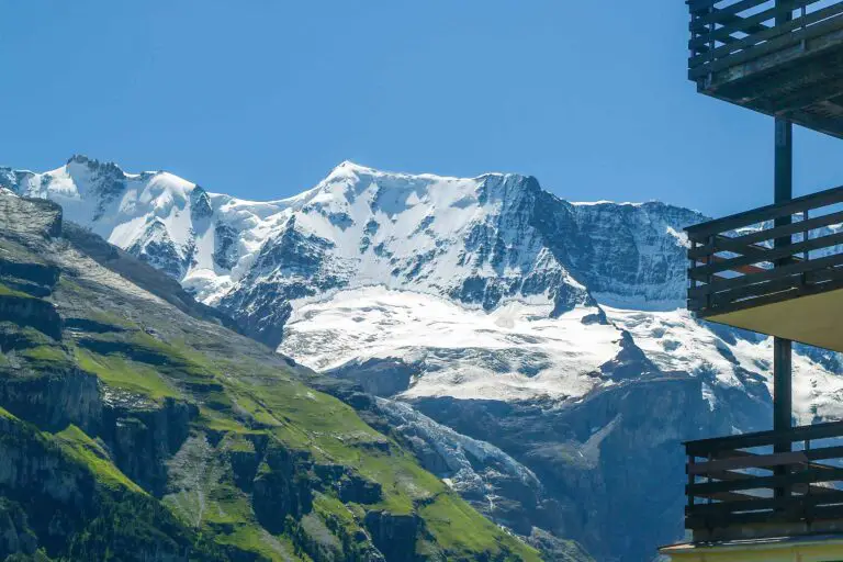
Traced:
<svg viewBox="0 0 843 562">
<path fill-rule="evenodd" d="M 843 423 L 689 441 L 685 449 L 694 542 L 843 531 Z"/>
</svg>

